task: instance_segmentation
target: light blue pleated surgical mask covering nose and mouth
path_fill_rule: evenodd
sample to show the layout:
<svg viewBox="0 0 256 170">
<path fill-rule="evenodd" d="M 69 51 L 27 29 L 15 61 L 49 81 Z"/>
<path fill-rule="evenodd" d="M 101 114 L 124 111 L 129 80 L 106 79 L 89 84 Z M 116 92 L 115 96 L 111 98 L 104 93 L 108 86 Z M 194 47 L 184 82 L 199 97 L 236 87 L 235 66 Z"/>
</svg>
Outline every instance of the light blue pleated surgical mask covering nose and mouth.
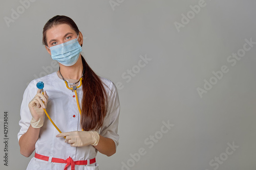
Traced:
<svg viewBox="0 0 256 170">
<path fill-rule="evenodd" d="M 82 48 L 77 41 L 78 36 L 76 39 L 72 39 L 56 46 L 51 46 L 50 48 L 47 46 L 51 50 L 52 59 L 65 66 L 74 65 L 82 51 Z"/>
</svg>

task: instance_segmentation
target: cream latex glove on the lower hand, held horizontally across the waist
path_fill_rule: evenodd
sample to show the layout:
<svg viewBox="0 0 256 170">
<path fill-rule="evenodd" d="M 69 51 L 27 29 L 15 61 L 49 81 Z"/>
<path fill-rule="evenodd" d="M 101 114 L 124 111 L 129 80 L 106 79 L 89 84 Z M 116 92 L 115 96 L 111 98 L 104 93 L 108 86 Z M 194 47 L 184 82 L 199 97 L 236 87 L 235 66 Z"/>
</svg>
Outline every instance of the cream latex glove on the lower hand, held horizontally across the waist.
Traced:
<svg viewBox="0 0 256 170">
<path fill-rule="evenodd" d="M 84 147 L 89 144 L 96 146 L 99 142 L 99 134 L 96 131 L 73 131 L 59 133 L 56 137 L 66 136 L 65 142 L 72 147 Z"/>
</svg>

